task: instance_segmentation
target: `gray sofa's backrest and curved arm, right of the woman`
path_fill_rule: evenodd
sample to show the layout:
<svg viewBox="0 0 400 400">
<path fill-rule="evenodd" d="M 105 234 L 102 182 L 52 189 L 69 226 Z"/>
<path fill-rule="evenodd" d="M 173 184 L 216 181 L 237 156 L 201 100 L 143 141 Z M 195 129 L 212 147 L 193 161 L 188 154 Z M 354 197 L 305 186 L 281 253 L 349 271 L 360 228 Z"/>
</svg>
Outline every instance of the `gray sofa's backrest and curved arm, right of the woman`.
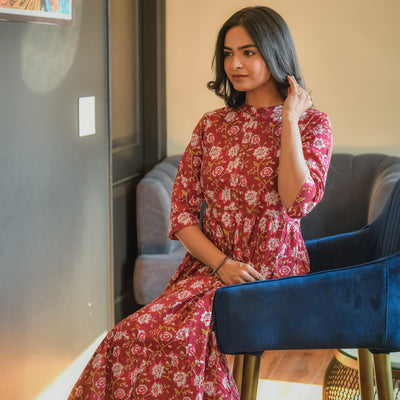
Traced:
<svg viewBox="0 0 400 400">
<path fill-rule="evenodd" d="M 305 240 L 352 232 L 382 210 L 400 178 L 400 157 L 384 154 L 332 155 L 325 195 L 301 220 Z"/>
</svg>

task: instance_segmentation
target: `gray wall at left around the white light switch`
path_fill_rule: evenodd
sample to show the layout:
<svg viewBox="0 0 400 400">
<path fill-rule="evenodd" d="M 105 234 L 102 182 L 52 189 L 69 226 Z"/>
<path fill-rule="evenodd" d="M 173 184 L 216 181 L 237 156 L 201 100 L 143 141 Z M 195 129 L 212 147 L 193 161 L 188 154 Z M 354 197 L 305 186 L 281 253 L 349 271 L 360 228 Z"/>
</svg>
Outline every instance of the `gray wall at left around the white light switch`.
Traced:
<svg viewBox="0 0 400 400">
<path fill-rule="evenodd" d="M 106 1 L 73 4 L 72 27 L 0 22 L 2 398 L 35 398 L 110 326 Z"/>
</svg>

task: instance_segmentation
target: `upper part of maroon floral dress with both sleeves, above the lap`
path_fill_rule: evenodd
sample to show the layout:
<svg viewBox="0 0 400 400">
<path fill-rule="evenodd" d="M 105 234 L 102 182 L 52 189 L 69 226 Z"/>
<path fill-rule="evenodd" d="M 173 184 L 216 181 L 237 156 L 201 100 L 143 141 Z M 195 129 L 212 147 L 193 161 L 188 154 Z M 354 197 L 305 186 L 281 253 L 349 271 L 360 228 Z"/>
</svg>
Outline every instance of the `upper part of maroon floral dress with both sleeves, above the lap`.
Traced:
<svg viewBox="0 0 400 400">
<path fill-rule="evenodd" d="M 265 279 L 304 274 L 309 260 L 300 218 L 322 198 L 331 157 L 331 125 L 309 109 L 299 121 L 310 174 L 291 207 L 278 194 L 282 106 L 243 105 L 206 114 L 197 125 L 175 180 L 170 237 L 200 220 L 206 236 Z M 181 265 L 179 270 L 185 269 Z"/>
</svg>

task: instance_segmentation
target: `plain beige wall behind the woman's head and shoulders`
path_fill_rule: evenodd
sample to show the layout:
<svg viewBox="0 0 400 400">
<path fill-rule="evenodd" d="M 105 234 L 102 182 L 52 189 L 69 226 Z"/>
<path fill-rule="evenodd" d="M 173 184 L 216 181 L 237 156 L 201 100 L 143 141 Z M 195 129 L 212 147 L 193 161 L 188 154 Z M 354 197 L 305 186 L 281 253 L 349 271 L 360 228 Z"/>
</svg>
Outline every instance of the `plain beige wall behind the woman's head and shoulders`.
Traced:
<svg viewBox="0 0 400 400">
<path fill-rule="evenodd" d="M 287 21 L 316 108 L 331 117 L 334 151 L 400 156 L 399 0 L 167 0 L 168 154 L 182 153 L 204 112 L 217 32 L 254 4 Z"/>
</svg>

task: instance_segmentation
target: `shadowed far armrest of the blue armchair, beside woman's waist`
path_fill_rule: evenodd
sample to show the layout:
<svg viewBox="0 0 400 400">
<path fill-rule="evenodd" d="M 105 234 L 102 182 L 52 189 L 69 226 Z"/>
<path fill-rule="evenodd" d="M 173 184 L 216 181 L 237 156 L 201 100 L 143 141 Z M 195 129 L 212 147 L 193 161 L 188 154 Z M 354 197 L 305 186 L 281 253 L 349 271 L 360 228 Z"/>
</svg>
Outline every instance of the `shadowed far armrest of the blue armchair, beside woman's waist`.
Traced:
<svg viewBox="0 0 400 400">
<path fill-rule="evenodd" d="M 311 272 L 369 262 L 375 245 L 371 240 L 370 225 L 355 232 L 309 240 L 306 247 Z"/>
</svg>

